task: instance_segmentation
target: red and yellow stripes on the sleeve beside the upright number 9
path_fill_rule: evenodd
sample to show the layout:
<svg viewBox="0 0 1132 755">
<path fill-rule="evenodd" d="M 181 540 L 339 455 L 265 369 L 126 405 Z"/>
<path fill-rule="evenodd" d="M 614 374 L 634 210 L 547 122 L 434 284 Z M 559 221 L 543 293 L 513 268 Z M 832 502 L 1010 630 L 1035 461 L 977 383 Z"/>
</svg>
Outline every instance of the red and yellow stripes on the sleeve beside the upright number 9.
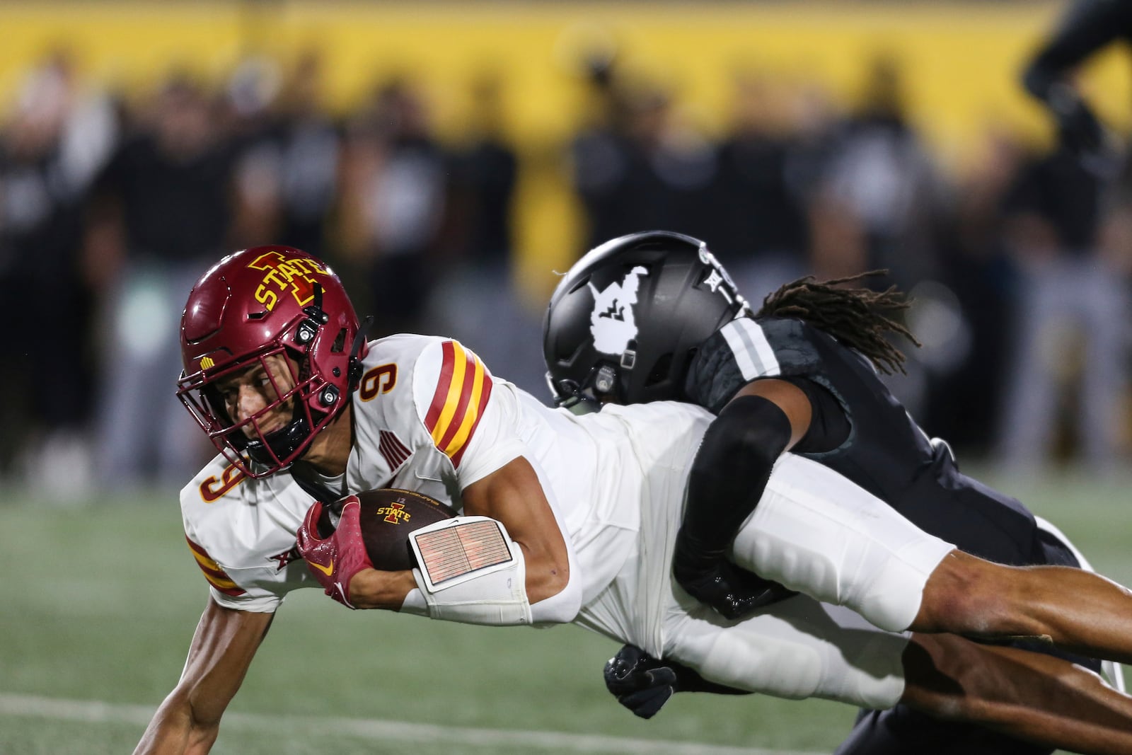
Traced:
<svg viewBox="0 0 1132 755">
<path fill-rule="evenodd" d="M 440 379 L 424 415 L 436 447 L 460 466 L 468 441 L 491 395 L 491 376 L 479 358 L 455 341 L 441 344 Z"/>
</svg>

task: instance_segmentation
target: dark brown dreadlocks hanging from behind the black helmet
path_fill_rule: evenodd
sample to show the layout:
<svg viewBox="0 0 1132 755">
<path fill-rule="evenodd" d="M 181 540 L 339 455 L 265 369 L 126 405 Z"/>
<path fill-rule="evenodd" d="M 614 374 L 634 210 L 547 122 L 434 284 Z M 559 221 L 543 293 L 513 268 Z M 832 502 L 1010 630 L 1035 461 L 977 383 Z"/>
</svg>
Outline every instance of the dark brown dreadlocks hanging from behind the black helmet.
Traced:
<svg viewBox="0 0 1132 755">
<path fill-rule="evenodd" d="M 903 352 L 886 337 L 887 333 L 895 333 L 920 345 L 907 327 L 890 317 L 910 306 L 903 293 L 894 285 L 881 292 L 839 288 L 887 273 L 886 269 L 869 271 L 822 282 L 807 275 L 767 294 L 755 317 L 797 317 L 859 351 L 881 372 L 892 375 L 900 370 L 907 374 Z"/>
</svg>

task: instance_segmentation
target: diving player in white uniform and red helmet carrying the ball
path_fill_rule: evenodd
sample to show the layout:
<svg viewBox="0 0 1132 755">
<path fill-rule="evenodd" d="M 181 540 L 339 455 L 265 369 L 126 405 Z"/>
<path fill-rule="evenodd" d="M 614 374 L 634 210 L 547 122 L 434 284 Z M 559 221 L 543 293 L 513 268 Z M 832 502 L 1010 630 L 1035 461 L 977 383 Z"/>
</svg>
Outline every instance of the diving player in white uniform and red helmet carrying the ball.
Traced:
<svg viewBox="0 0 1132 755">
<path fill-rule="evenodd" d="M 311 577 L 352 608 L 489 625 L 575 621 L 737 688 L 906 702 L 1044 745 L 1132 749 L 1132 698 L 1096 675 L 904 632 L 1014 632 L 1015 597 L 988 600 L 977 584 L 955 583 L 949 543 L 806 460 L 782 460 L 752 521 L 757 534 L 735 558 L 843 607 L 799 595 L 730 620 L 675 587 L 687 467 L 711 421 L 702 409 L 657 403 L 577 418 L 494 377 L 454 341 L 367 344 L 337 277 L 286 247 L 248 249 L 205 273 L 181 333 L 179 395 L 221 451 L 181 496 L 212 598 L 139 752 L 211 747 L 274 610 Z M 321 504 L 312 501 L 378 487 L 499 523 L 511 558 L 448 590 L 423 565 L 369 567 L 355 505 L 319 538 Z M 295 535 L 307 564 L 293 559 Z M 1022 584 L 1041 578 L 1018 572 Z M 1132 597 L 1121 595 L 1087 609 L 1065 598 L 1078 614 L 1048 634 L 1126 658 Z M 1106 623 L 1082 635 L 1098 614 Z"/>
</svg>

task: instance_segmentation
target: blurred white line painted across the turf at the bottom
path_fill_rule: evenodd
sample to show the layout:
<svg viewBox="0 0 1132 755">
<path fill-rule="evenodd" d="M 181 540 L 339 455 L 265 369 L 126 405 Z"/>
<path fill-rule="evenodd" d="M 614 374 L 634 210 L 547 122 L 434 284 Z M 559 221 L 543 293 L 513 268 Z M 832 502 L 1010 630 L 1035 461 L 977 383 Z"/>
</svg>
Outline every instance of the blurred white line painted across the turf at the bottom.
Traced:
<svg viewBox="0 0 1132 755">
<path fill-rule="evenodd" d="M 148 705 L 126 705 L 100 701 L 61 700 L 36 695 L 0 693 L 0 715 L 33 717 L 86 723 L 136 723 L 144 727 L 153 717 Z M 404 743 L 447 744 L 454 746 L 511 746 L 533 749 L 571 750 L 575 753 L 626 753 L 642 755 L 817 755 L 799 750 L 730 747 L 698 743 L 633 739 L 600 735 L 531 731 L 518 729 L 475 729 L 431 723 L 409 723 L 379 719 L 332 717 L 265 715 L 235 713 L 224 715 L 224 727 L 252 730 L 299 728 L 315 733 L 349 735 L 362 739 L 391 739 Z"/>
</svg>

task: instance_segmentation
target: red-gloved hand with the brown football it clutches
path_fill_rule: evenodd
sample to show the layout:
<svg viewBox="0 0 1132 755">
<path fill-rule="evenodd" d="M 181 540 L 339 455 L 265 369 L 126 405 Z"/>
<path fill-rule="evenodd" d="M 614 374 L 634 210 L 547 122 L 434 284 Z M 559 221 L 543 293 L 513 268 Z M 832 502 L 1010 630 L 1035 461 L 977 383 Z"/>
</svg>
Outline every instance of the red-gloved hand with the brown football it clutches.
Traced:
<svg viewBox="0 0 1132 755">
<path fill-rule="evenodd" d="M 353 608 L 350 580 L 354 574 L 365 568 L 413 568 L 409 533 L 455 515 L 434 498 L 393 488 L 346 496 L 329 505 L 316 501 L 299 527 L 299 554 L 326 594 Z"/>
</svg>

